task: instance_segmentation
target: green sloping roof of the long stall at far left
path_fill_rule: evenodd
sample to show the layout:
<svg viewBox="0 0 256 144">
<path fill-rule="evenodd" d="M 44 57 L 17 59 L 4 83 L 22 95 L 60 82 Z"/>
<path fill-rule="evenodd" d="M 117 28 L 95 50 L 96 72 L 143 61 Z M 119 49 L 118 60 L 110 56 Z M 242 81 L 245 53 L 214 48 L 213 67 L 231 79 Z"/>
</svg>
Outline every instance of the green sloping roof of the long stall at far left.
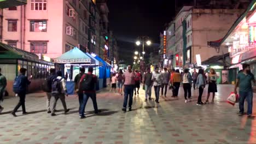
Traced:
<svg viewBox="0 0 256 144">
<path fill-rule="evenodd" d="M 39 58 L 32 52 L 27 52 L 16 47 L 0 43 L 0 58 L 1 59 L 27 59 L 30 61 L 39 62 Z"/>
</svg>

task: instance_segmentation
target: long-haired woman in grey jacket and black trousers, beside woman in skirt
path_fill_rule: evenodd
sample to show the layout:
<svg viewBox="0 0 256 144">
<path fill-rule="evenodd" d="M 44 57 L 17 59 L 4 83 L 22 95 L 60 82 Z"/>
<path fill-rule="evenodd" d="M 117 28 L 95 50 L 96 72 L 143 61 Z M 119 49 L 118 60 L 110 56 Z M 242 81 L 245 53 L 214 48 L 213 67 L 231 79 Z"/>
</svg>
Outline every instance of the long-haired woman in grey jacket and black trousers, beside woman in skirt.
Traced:
<svg viewBox="0 0 256 144">
<path fill-rule="evenodd" d="M 196 86 L 199 89 L 199 97 L 197 99 L 196 105 L 203 105 L 202 93 L 203 93 L 203 89 L 205 88 L 205 85 L 206 85 L 206 80 L 205 80 L 205 75 L 203 73 L 203 69 L 199 69 L 197 80 L 196 80 Z"/>
</svg>

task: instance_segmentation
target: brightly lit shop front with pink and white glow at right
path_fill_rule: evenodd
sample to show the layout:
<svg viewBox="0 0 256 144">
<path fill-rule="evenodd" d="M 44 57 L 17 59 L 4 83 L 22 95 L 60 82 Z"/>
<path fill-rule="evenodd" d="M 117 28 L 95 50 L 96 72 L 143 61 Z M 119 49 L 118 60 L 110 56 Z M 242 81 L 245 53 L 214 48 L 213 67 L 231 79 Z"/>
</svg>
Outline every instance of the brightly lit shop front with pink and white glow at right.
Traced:
<svg viewBox="0 0 256 144">
<path fill-rule="evenodd" d="M 243 13 L 230 28 L 220 42 L 222 46 L 227 47 L 230 52 L 231 65 L 229 67 L 228 79 L 232 84 L 236 82 L 236 76 L 239 70 L 242 70 L 242 64 L 251 65 L 252 73 L 256 71 L 256 1 L 249 4 L 245 13 Z"/>
</svg>

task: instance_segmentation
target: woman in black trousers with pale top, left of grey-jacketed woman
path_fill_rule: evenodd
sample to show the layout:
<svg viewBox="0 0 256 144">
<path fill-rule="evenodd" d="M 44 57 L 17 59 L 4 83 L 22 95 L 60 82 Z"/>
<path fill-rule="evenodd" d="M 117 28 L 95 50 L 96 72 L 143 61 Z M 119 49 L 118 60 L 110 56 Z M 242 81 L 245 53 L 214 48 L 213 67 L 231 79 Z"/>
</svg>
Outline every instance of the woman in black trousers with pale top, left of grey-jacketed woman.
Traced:
<svg viewBox="0 0 256 144">
<path fill-rule="evenodd" d="M 182 83 L 183 83 L 183 89 L 184 89 L 185 103 L 188 103 L 190 102 L 190 99 L 191 99 L 191 85 L 192 85 L 192 76 L 189 73 L 188 69 L 184 70 Z M 189 99 L 187 99 L 187 96 Z"/>
</svg>

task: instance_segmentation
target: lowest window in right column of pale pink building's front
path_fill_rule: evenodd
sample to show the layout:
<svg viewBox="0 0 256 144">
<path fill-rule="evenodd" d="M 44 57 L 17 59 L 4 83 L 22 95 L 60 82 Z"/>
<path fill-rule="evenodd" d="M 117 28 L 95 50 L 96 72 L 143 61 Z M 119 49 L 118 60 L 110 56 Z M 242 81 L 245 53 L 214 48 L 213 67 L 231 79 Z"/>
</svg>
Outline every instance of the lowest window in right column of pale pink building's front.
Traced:
<svg viewBox="0 0 256 144">
<path fill-rule="evenodd" d="M 32 42 L 30 43 L 30 52 L 33 53 L 47 53 L 46 42 Z"/>
</svg>

